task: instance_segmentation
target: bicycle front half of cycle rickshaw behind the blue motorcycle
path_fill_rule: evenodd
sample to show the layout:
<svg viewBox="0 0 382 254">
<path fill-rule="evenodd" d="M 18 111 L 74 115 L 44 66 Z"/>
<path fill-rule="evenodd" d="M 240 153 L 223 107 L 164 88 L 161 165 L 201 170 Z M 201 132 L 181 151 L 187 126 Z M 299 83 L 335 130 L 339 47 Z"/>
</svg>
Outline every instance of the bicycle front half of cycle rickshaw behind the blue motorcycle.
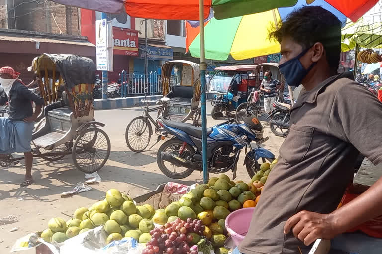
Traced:
<svg viewBox="0 0 382 254">
<path fill-rule="evenodd" d="M 155 133 L 160 132 L 161 127 L 157 123 L 157 119 L 161 116 L 168 116 L 166 104 L 170 101 L 169 98 L 161 98 L 160 100 L 150 101 L 145 99 L 141 100 L 142 103 L 146 103 L 142 116 L 136 117 L 127 125 L 125 132 L 126 144 L 133 152 L 139 153 L 146 149 L 150 143 L 151 136 L 153 135 L 153 128 L 150 122 L 155 126 Z M 149 108 L 150 103 L 155 102 L 161 104 L 160 106 Z M 154 120 L 150 116 L 150 112 L 157 111 L 157 118 Z"/>
</svg>

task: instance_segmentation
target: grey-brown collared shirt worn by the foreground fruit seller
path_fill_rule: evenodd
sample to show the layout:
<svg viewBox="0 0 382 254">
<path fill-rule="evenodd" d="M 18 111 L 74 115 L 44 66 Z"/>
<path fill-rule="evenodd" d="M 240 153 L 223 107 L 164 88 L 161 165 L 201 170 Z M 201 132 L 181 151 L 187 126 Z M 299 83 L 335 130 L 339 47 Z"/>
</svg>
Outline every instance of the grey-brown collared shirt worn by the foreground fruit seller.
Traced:
<svg viewBox="0 0 382 254">
<path fill-rule="evenodd" d="M 239 246 L 245 254 L 308 253 L 286 220 L 302 211 L 335 210 L 353 179 L 360 151 L 374 164 L 382 161 L 382 104 L 351 73 L 328 78 L 300 95 L 291 110 L 290 132 L 281 145 Z"/>
</svg>

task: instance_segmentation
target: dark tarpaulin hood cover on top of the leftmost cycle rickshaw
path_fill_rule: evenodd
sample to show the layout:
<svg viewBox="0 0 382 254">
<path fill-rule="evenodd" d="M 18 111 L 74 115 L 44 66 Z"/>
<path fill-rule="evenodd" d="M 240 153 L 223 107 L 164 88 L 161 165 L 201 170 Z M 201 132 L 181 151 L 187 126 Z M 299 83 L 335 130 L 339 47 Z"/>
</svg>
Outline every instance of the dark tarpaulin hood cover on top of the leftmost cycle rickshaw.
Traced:
<svg viewBox="0 0 382 254">
<path fill-rule="evenodd" d="M 68 89 L 78 84 L 93 84 L 96 66 L 93 60 L 86 57 L 67 54 L 42 54 L 33 60 L 33 71 L 53 70 L 59 72 Z"/>
</svg>

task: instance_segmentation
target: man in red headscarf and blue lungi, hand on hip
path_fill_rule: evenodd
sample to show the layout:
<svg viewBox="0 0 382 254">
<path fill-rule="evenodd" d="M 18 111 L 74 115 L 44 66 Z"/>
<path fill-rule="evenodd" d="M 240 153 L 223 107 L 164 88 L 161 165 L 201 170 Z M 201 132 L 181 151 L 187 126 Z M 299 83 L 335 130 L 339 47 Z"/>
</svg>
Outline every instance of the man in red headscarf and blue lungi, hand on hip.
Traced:
<svg viewBox="0 0 382 254">
<path fill-rule="evenodd" d="M 44 105 L 44 100 L 17 79 L 20 73 L 11 67 L 0 69 L 0 83 L 8 96 L 9 117 L 0 118 L 0 161 L 5 154 L 24 153 L 25 179 L 20 186 L 30 185 L 32 179 L 32 152 L 30 142 L 34 121 Z M 32 101 L 36 104 L 33 113 Z"/>
</svg>

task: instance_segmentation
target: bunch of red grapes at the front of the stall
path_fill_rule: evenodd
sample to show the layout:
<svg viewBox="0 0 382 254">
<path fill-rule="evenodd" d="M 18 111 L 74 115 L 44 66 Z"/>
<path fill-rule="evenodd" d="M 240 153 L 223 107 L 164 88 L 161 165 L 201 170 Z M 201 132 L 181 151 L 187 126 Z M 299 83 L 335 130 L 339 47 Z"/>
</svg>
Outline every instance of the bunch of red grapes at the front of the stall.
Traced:
<svg viewBox="0 0 382 254">
<path fill-rule="evenodd" d="M 176 219 L 166 223 L 164 227 L 154 228 L 150 231 L 151 240 L 146 244 L 142 254 L 197 254 L 196 250 L 190 250 L 195 233 L 203 235 L 205 226 L 201 220 L 187 221 Z"/>
</svg>

